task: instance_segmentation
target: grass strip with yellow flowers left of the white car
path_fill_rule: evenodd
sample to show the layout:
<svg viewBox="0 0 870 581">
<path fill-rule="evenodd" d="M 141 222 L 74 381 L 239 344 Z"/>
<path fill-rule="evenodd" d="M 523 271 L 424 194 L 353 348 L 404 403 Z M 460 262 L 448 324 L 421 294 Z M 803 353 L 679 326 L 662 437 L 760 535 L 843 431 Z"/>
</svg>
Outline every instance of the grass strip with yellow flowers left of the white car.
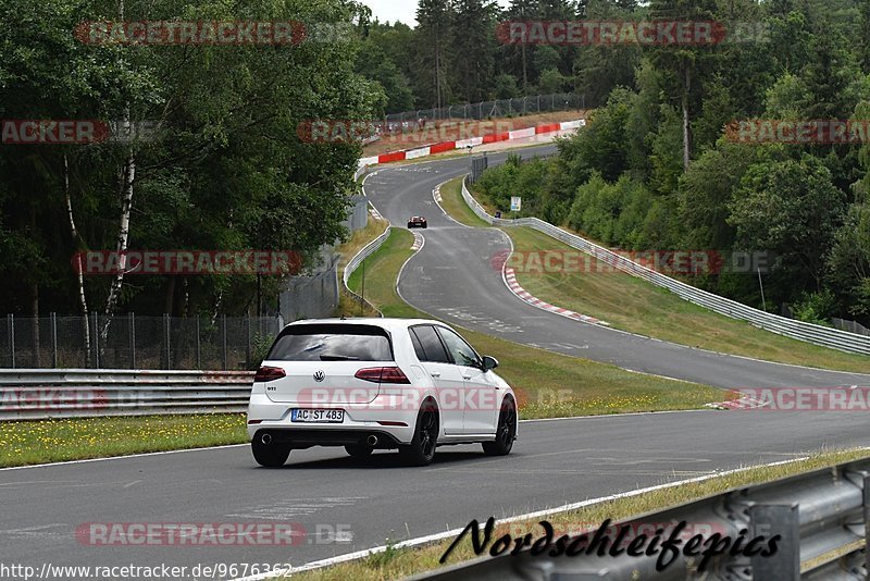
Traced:
<svg viewBox="0 0 870 581">
<path fill-rule="evenodd" d="M 244 444 L 245 419 L 211 413 L 0 422 L 0 467 Z"/>
</svg>

